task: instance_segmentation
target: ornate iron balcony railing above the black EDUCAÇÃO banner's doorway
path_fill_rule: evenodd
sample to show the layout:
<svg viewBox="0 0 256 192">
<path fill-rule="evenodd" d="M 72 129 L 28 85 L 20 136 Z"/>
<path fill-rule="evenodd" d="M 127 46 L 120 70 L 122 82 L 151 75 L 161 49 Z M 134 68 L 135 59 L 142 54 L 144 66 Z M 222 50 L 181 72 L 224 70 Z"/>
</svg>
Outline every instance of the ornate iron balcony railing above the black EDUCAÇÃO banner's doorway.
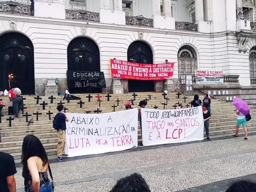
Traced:
<svg viewBox="0 0 256 192">
<path fill-rule="evenodd" d="M 89 12 L 84 10 L 68 10 L 66 9 L 66 19 L 100 22 L 100 13 Z"/>
</svg>

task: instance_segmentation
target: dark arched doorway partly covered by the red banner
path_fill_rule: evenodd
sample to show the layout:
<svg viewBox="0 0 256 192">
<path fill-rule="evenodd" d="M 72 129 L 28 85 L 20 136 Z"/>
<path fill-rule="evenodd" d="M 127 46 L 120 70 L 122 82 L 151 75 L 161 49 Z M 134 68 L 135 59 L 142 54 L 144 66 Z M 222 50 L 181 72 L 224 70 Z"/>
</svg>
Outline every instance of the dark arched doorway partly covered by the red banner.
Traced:
<svg viewBox="0 0 256 192">
<path fill-rule="evenodd" d="M 136 63 L 153 63 L 153 53 L 148 44 L 142 41 L 134 41 L 127 50 L 127 60 Z M 128 80 L 129 92 L 153 92 L 154 81 Z"/>
</svg>

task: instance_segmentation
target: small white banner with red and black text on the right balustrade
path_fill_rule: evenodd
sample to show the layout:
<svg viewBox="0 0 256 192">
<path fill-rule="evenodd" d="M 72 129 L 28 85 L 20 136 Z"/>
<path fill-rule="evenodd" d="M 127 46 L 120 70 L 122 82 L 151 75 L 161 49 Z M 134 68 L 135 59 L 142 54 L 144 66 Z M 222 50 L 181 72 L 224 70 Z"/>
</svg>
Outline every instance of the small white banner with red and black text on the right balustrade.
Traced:
<svg viewBox="0 0 256 192">
<path fill-rule="evenodd" d="M 223 71 L 196 70 L 196 84 L 223 84 Z"/>
</svg>

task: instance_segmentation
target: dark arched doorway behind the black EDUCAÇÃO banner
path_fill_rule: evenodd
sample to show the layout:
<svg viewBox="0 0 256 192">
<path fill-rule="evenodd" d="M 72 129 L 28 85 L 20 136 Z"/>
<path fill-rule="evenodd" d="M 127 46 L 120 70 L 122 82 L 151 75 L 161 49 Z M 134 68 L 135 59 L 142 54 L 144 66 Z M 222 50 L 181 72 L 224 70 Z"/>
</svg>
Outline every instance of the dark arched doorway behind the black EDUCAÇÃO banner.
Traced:
<svg viewBox="0 0 256 192">
<path fill-rule="evenodd" d="M 89 38 L 77 37 L 68 44 L 68 70 L 100 71 L 100 51 Z M 69 89 L 70 93 L 101 93 L 100 88 Z"/>
</svg>

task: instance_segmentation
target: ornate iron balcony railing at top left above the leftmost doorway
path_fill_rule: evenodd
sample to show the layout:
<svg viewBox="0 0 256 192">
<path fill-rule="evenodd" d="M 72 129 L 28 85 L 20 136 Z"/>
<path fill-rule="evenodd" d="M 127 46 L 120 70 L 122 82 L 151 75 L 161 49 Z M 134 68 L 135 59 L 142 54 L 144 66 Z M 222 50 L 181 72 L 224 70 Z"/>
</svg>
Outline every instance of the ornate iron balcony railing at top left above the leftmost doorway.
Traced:
<svg viewBox="0 0 256 192">
<path fill-rule="evenodd" d="M 0 13 L 34 16 L 34 5 L 26 5 L 12 1 L 0 2 Z"/>
</svg>

